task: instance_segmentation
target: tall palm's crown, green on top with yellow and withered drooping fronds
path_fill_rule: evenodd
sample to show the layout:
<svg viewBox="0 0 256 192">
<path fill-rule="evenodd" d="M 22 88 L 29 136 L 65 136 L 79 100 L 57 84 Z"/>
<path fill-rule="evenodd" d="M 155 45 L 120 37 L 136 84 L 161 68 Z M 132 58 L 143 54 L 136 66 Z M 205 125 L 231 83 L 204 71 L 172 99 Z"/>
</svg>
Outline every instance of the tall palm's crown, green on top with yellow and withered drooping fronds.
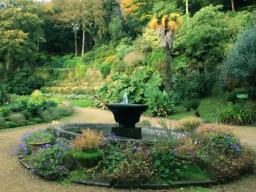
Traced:
<svg viewBox="0 0 256 192">
<path fill-rule="evenodd" d="M 179 9 L 176 2 L 158 1 L 152 8 L 153 14 L 149 26 L 157 30 L 157 36 L 166 55 L 171 55 L 174 35 L 182 24 L 177 12 Z"/>
</svg>

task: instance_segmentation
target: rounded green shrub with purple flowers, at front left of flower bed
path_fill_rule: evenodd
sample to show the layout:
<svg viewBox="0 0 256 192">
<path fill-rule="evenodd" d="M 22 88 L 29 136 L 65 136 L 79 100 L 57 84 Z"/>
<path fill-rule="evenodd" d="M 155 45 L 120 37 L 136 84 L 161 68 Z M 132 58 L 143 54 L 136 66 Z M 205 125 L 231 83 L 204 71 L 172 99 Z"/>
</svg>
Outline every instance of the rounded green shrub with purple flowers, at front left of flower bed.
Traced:
<svg viewBox="0 0 256 192">
<path fill-rule="evenodd" d="M 42 148 L 32 158 L 34 172 L 46 180 L 61 180 L 76 168 L 76 162 L 67 144 Z"/>
</svg>

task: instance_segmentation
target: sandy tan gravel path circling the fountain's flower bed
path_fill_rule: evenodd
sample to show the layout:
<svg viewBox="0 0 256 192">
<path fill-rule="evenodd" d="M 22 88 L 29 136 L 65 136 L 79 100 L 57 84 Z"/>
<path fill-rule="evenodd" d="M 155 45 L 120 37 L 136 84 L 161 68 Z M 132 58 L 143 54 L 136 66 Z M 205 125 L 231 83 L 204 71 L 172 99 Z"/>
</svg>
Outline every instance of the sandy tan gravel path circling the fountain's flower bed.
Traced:
<svg viewBox="0 0 256 192">
<path fill-rule="evenodd" d="M 72 122 L 78 120 L 84 120 L 84 122 L 109 122 L 114 123 L 113 115 L 110 111 L 102 111 L 92 108 L 77 108 L 77 113 L 72 117 L 64 118 L 69 119 Z M 158 118 L 142 117 L 142 119 L 149 119 L 153 125 L 159 126 L 157 123 Z M 172 125 L 177 125 L 178 121 L 173 120 Z M 34 126 L 35 129 L 45 128 L 48 124 L 41 124 Z M 240 128 L 240 127 L 239 127 Z M 256 128 L 255 127 L 243 127 L 243 130 L 234 127 L 234 131 L 241 134 L 241 140 L 245 140 L 251 145 L 256 146 L 256 139 L 253 137 Z M 30 172 L 24 169 L 20 163 L 17 162 L 16 157 L 11 156 L 7 151 L 11 151 L 14 145 L 18 143 L 18 140 L 25 131 L 32 130 L 32 126 L 26 126 L 23 128 L 15 128 L 0 131 L 0 192 L 128 192 L 131 190 L 117 190 L 117 189 L 105 189 L 101 187 L 91 186 L 59 186 L 53 182 L 47 182 L 45 180 L 34 177 Z M 249 132 L 247 132 L 249 131 Z M 254 177 L 254 181 L 256 177 Z M 255 182 L 248 183 L 247 187 L 255 189 Z M 239 189 L 239 188 L 238 188 Z M 136 191 L 136 190 L 133 190 Z M 143 191 L 143 190 L 140 190 Z M 221 190 L 223 191 L 223 189 Z M 233 189 L 231 185 L 227 185 L 224 191 L 250 191 Z"/>
</svg>

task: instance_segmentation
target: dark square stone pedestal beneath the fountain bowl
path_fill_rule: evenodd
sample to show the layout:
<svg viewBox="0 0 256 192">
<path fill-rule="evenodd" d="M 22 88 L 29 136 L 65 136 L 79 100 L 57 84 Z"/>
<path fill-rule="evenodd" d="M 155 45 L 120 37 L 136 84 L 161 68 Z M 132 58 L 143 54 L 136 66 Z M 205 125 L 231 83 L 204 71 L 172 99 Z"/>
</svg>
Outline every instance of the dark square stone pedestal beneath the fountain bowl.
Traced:
<svg viewBox="0 0 256 192">
<path fill-rule="evenodd" d="M 112 133 L 114 133 L 118 137 L 129 137 L 136 140 L 142 139 L 140 127 L 135 127 L 135 128 L 125 128 L 120 126 L 112 127 Z"/>
</svg>

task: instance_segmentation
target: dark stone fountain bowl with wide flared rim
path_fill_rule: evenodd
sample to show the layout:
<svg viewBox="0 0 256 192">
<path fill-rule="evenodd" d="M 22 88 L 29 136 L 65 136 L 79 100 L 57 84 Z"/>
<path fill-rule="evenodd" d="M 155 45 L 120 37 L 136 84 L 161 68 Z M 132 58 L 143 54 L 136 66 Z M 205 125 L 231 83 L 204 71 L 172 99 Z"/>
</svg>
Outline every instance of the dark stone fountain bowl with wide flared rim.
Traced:
<svg viewBox="0 0 256 192">
<path fill-rule="evenodd" d="M 108 103 L 106 106 L 113 113 L 119 126 L 127 128 L 135 128 L 135 124 L 140 122 L 142 113 L 148 110 L 148 105 Z"/>
</svg>

